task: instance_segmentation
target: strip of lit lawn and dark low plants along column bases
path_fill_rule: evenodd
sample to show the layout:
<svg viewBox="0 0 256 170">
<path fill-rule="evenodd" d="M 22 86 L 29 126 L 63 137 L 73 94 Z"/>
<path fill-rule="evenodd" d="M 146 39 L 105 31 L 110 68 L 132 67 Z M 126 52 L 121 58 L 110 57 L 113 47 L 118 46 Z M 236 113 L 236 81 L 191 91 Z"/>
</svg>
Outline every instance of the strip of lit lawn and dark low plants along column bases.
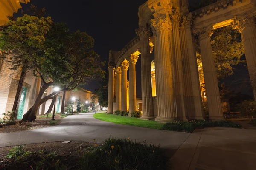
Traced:
<svg viewBox="0 0 256 170">
<path fill-rule="evenodd" d="M 94 118 L 103 120 L 106 122 L 112 122 L 122 125 L 131 125 L 138 127 L 147 127 L 151 129 L 159 130 L 169 130 L 176 132 L 187 132 L 192 133 L 195 128 L 204 128 L 204 127 L 233 127 L 233 128 L 242 128 L 238 123 L 231 121 L 221 120 L 221 121 L 211 121 L 211 120 L 192 120 L 188 122 L 176 121 L 168 122 L 165 124 L 158 123 L 156 121 L 147 121 L 140 120 L 135 117 L 126 117 L 126 116 L 116 116 L 116 115 L 107 115 L 104 113 L 96 113 L 93 115 Z"/>
</svg>

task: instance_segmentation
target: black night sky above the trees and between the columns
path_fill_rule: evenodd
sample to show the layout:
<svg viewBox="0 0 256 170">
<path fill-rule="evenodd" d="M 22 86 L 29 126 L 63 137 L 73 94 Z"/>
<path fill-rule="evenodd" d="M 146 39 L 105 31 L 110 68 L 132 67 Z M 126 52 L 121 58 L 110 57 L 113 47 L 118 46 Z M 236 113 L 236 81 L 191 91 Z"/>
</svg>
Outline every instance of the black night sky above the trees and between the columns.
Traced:
<svg viewBox="0 0 256 170">
<path fill-rule="evenodd" d="M 197 5 L 197 1 L 200 0 L 193 0 L 194 6 Z M 21 3 L 21 5 L 25 11 L 30 4 L 38 6 L 39 9 L 45 7 L 46 16 L 51 16 L 55 22 L 67 23 L 70 31 L 87 32 L 95 40 L 96 53 L 100 55 L 102 61 L 108 63 L 109 50 L 121 51 L 136 36 L 138 8 L 145 2 L 146 0 L 31 0 L 30 3 Z M 21 16 L 20 10 L 14 16 Z M 154 59 L 153 54 L 151 58 Z M 102 69 L 106 68 L 107 64 Z M 241 71 L 241 69 L 237 71 L 238 76 L 247 74 L 246 70 Z M 137 97 L 141 97 L 140 57 L 136 70 Z M 230 84 L 235 75 L 224 81 Z M 84 86 L 89 91 L 94 91 L 97 87 L 98 82 L 95 81 Z M 252 95 L 250 88 L 246 91 L 243 89 L 242 92 Z"/>
</svg>

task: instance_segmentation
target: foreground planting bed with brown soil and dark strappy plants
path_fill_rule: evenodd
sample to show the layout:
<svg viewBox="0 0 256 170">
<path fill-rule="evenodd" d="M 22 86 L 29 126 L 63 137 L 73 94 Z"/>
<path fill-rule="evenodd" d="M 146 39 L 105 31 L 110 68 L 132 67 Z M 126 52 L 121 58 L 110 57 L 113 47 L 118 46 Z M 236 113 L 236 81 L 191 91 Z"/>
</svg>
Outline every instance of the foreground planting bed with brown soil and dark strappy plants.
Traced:
<svg viewBox="0 0 256 170">
<path fill-rule="evenodd" d="M 160 146 L 129 138 L 103 144 L 49 142 L 0 150 L 0 170 L 164 170 L 168 157 Z"/>
</svg>

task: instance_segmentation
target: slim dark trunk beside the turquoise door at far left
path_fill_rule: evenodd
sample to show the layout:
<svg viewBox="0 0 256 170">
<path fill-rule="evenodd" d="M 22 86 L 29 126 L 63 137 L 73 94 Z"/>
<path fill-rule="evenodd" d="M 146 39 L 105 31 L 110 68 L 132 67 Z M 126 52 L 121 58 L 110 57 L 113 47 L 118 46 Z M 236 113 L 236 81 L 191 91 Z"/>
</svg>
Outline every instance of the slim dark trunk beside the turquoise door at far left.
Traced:
<svg viewBox="0 0 256 170">
<path fill-rule="evenodd" d="M 14 99 L 14 103 L 13 103 L 13 107 L 12 107 L 12 117 L 14 117 L 15 119 L 18 119 L 18 111 L 19 111 L 19 105 L 20 105 L 20 94 L 22 92 L 25 77 L 26 77 L 26 68 L 23 67 L 21 70 L 20 80 L 19 80 L 17 92 L 15 95 L 15 99 Z"/>
</svg>

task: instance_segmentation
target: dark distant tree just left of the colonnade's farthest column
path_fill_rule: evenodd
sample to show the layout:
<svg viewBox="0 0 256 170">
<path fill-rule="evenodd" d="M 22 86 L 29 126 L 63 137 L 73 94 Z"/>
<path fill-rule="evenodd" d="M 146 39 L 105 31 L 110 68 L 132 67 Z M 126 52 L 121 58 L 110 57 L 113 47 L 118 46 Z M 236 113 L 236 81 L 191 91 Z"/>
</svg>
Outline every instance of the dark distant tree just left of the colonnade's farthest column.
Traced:
<svg viewBox="0 0 256 170">
<path fill-rule="evenodd" d="M 93 94 L 98 98 L 100 106 L 108 107 L 108 70 L 105 71 L 105 78 L 99 82 L 99 85 Z"/>
</svg>

